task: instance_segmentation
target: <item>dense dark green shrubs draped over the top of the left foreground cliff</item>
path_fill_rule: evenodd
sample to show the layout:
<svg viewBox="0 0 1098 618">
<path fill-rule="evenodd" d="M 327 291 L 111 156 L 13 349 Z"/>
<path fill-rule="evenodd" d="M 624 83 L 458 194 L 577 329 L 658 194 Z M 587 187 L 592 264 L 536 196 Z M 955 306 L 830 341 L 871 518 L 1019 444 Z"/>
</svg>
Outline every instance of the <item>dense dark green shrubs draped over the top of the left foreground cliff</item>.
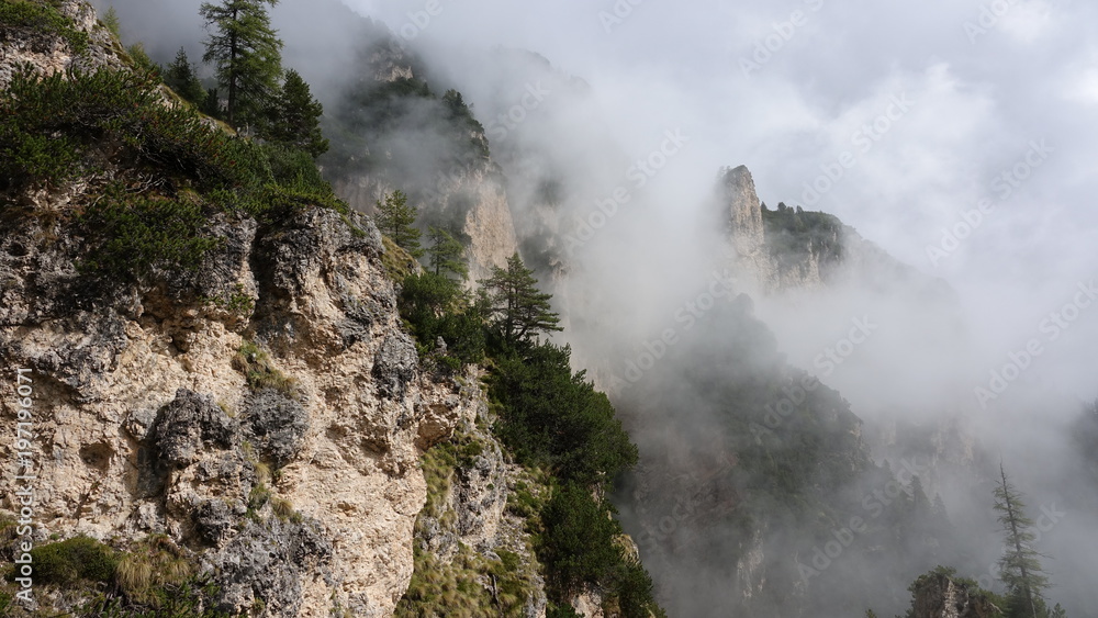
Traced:
<svg viewBox="0 0 1098 618">
<path fill-rule="evenodd" d="M 307 154 L 234 137 L 188 105 L 166 106 L 158 83 L 124 70 L 40 78 L 24 69 L 0 92 L 0 192 L 98 172 L 116 179 L 89 195 L 80 218 L 91 249 L 86 273 L 134 282 L 193 268 L 217 244 L 204 227 L 216 212 L 280 226 L 326 207 L 349 223 Z"/>
</svg>

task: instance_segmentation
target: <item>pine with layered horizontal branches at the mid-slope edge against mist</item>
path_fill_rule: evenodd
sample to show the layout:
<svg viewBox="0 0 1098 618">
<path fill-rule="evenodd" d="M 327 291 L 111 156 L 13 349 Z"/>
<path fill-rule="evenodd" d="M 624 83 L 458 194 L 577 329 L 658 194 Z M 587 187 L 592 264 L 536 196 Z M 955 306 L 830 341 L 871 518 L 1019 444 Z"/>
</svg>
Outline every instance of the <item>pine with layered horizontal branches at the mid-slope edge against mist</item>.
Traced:
<svg viewBox="0 0 1098 618">
<path fill-rule="evenodd" d="M 480 283 L 488 290 L 489 314 L 495 317 L 508 347 L 528 341 L 536 333 L 563 330 L 558 326 L 560 317 L 549 311 L 552 294 L 538 291 L 534 271 L 526 268 L 517 251 L 507 258 L 506 270 L 495 267 L 492 277 Z"/>
</svg>

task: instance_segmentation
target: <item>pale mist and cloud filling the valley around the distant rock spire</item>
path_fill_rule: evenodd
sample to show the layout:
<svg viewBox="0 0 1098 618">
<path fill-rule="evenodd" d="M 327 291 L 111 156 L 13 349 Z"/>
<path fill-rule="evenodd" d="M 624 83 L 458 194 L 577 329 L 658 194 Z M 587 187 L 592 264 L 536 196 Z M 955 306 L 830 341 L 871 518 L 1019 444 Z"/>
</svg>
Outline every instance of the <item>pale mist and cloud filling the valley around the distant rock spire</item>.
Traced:
<svg viewBox="0 0 1098 618">
<path fill-rule="evenodd" d="M 114 2 L 134 31 L 163 27 L 143 35 L 161 60 L 197 38 L 198 4 Z M 896 576 L 954 560 L 991 585 L 990 473 L 1001 460 L 1031 516 L 1044 517 L 1050 597 L 1086 616 L 1098 607 L 1096 485 L 1073 435 L 1083 402 L 1098 396 L 1095 12 L 1071 0 L 284 0 L 273 18 L 287 65 L 329 106 L 361 67 L 363 42 L 385 29 L 436 90 L 472 104 L 506 178 L 518 246 L 568 321 L 560 339 L 641 447 L 642 473 L 619 503 L 627 531 L 660 537 L 640 542 L 641 555 L 654 557 L 674 615 L 742 602 L 758 589 L 752 560 L 787 591 L 815 585 L 798 565 L 828 538 L 796 515 L 740 523 L 759 538 L 715 540 L 735 536 L 736 505 L 769 497 L 758 476 L 730 472 L 743 452 L 800 449 L 752 434 L 774 431 L 768 406 L 791 400 L 837 440 L 858 435 L 849 459 L 819 465 L 830 472 L 804 490 L 834 490 L 820 498 L 833 508 L 822 525 L 832 537 L 844 538 L 851 516 L 876 519 L 894 475 L 919 475 L 957 533 L 944 548 L 896 541 L 911 561 Z M 399 134 L 390 150 L 423 147 Z M 719 170 L 739 165 L 771 210 L 822 211 L 856 231 L 845 246 L 862 261 L 800 288 L 752 282 L 719 189 Z M 911 270 L 874 268 L 893 258 Z M 797 384 L 808 383 L 822 386 L 802 397 Z M 759 416 L 728 425 L 729 406 Z M 651 481 L 661 467 L 697 469 L 688 483 L 709 496 L 703 515 L 676 516 L 681 496 L 651 497 L 666 486 Z M 649 497 L 628 497 L 638 492 Z M 645 499 L 658 504 L 647 515 Z M 660 535 L 669 517 L 673 530 Z M 705 553 L 668 549 L 669 538 Z M 815 565 L 829 586 L 851 588 L 827 607 L 845 599 L 856 616 L 883 599 L 877 611 L 901 610 L 903 588 L 856 583 L 885 584 L 871 576 L 879 557 L 858 543 L 872 544 L 840 539 L 855 549 Z M 739 598 L 704 592 L 729 577 L 743 578 L 728 586 Z"/>
</svg>

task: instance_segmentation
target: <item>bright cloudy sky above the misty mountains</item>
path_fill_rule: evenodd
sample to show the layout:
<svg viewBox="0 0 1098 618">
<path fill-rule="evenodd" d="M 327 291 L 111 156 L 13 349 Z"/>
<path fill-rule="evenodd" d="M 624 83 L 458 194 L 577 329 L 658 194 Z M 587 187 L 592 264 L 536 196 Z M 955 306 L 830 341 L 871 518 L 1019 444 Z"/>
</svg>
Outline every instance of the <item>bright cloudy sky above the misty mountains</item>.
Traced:
<svg viewBox="0 0 1098 618">
<path fill-rule="evenodd" d="M 839 215 L 945 278 L 988 362 L 1098 277 L 1089 2 L 345 1 L 426 48 L 535 49 L 627 149 L 682 128 L 690 165 L 746 164 L 771 205 Z M 1039 370 L 1093 396 L 1098 305 L 1078 308 Z"/>
</svg>

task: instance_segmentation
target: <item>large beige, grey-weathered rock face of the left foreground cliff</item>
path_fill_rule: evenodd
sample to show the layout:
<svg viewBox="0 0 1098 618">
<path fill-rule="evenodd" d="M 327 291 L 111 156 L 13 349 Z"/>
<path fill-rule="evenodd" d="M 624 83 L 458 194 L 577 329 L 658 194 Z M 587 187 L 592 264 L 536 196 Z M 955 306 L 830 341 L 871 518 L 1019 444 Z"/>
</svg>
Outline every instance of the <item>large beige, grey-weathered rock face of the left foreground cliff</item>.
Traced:
<svg viewBox="0 0 1098 618">
<path fill-rule="evenodd" d="M 34 380 L 37 540 L 167 533 L 227 608 L 390 615 L 426 499 L 419 456 L 479 404 L 421 375 L 380 236 L 357 223 L 366 237 L 329 211 L 278 232 L 222 222 L 223 248 L 169 283 L 191 299 L 176 302 L 81 291 L 71 232 L 9 217 L 0 358 Z"/>
</svg>

